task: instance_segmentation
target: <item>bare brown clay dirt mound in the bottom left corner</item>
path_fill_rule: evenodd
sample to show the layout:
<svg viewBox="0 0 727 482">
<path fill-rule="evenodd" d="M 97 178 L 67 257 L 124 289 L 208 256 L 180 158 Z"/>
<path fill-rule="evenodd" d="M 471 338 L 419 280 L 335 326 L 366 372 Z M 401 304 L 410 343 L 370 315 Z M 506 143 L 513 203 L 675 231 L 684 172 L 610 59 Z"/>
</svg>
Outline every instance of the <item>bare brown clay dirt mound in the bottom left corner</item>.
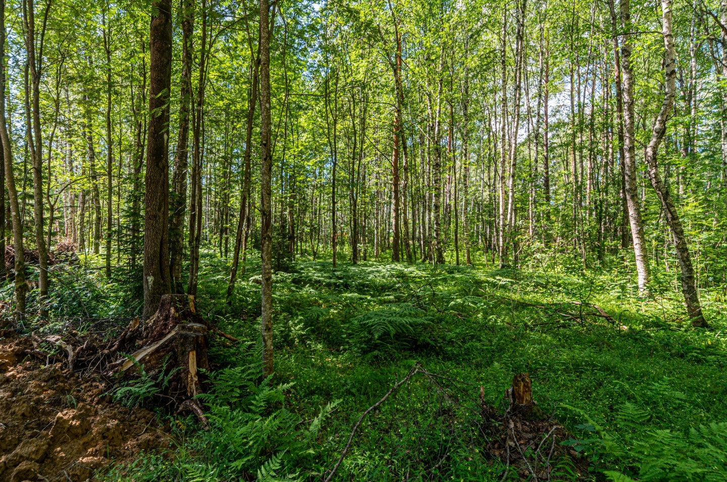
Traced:
<svg viewBox="0 0 727 482">
<path fill-rule="evenodd" d="M 102 397 L 100 376 L 81 380 L 28 351 L 30 339 L 0 330 L 0 481 L 93 481 L 111 460 L 169 446 L 169 427 Z"/>
</svg>

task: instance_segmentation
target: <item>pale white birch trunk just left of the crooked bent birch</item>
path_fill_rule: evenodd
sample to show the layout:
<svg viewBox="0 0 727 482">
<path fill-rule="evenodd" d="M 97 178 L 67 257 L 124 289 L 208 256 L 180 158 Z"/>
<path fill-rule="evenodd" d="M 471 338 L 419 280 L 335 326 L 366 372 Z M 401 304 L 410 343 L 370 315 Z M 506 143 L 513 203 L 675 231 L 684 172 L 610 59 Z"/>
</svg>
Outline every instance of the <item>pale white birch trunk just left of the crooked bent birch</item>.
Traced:
<svg viewBox="0 0 727 482">
<path fill-rule="evenodd" d="M 631 67 L 631 14 L 629 11 L 629 0 L 621 1 L 621 23 L 622 28 L 627 32 L 622 34 L 621 44 L 621 70 L 623 78 L 623 102 L 624 102 L 624 191 L 626 194 L 626 205 L 629 210 L 629 222 L 631 225 L 631 237 L 634 245 L 636 259 L 636 274 L 640 291 L 646 290 L 648 283 L 648 257 L 646 256 L 646 238 L 643 234 L 643 222 L 641 221 L 641 208 L 638 200 L 638 187 L 636 186 L 636 150 L 634 134 L 634 84 L 633 70 Z"/>
</svg>

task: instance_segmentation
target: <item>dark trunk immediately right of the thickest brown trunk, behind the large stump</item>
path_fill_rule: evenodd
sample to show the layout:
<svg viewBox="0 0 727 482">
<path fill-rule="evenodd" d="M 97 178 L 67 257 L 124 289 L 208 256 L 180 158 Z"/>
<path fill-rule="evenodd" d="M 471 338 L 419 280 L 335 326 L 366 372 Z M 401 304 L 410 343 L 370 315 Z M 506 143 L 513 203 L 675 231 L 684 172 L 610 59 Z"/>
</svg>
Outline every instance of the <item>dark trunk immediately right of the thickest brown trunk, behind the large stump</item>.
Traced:
<svg viewBox="0 0 727 482">
<path fill-rule="evenodd" d="M 177 131 L 177 149 L 174 151 L 171 213 L 169 216 L 169 273 L 172 292 L 184 293 L 182 287 L 182 257 L 184 255 L 184 221 L 187 211 L 187 167 L 189 159 L 189 118 L 192 103 L 192 36 L 194 1 L 183 0 L 182 17 L 182 75 L 180 77 L 180 126 Z"/>
</svg>

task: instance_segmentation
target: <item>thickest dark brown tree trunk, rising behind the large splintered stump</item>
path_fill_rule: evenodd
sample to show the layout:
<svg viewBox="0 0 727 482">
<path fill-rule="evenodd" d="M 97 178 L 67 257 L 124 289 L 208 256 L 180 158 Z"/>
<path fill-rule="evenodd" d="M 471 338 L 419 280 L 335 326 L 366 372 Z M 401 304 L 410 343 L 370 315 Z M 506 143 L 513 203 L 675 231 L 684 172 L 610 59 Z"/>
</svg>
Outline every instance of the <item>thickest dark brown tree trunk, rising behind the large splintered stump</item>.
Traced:
<svg viewBox="0 0 727 482">
<path fill-rule="evenodd" d="M 149 128 L 145 176 L 144 314 L 169 294 L 169 89 L 172 82 L 172 1 L 152 3 L 149 34 Z"/>
</svg>

